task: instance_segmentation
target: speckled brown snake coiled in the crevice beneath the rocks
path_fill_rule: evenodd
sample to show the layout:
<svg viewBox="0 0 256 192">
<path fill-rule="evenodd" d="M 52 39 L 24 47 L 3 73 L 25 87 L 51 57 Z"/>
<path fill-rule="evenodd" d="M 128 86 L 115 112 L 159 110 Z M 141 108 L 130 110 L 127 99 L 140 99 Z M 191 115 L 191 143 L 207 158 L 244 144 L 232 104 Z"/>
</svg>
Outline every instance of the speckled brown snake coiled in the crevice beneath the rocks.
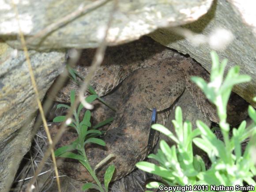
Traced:
<svg viewBox="0 0 256 192">
<path fill-rule="evenodd" d="M 94 49 L 83 52 L 76 70 L 85 76 L 91 63 Z M 132 172 L 136 162 L 146 158 L 150 125 L 151 110 L 157 108 L 157 123 L 165 124 L 168 109 L 188 89 L 194 102 L 202 113 L 211 121 L 218 122 L 216 110 L 206 99 L 202 91 L 190 81 L 192 75 L 209 80 L 208 72 L 189 57 L 167 49 L 154 42 L 151 38 L 141 38 L 125 45 L 109 47 L 105 53 L 102 66 L 91 81 L 96 92 L 102 96 L 109 93 L 121 82 L 118 88 L 120 106 L 115 114 L 113 123 L 103 136 L 106 147 L 88 144 L 87 157 L 94 167 L 108 154 L 114 154 L 97 170 L 98 178 L 103 181 L 106 168 L 114 164 L 116 171 L 113 181 Z M 69 102 L 71 89 L 78 90 L 75 83 L 69 82 L 58 97 L 59 102 Z M 228 121 L 237 124 L 246 117 L 245 101 L 233 94 L 228 105 Z M 237 113 L 236 109 L 241 109 Z M 54 135 L 57 126 L 51 128 Z M 153 143 L 157 142 L 159 134 L 154 134 Z M 76 138 L 74 131 L 67 131 L 59 141 L 57 147 L 66 145 Z M 65 159 L 59 169 L 78 181 L 92 181 L 87 170 L 76 160 Z"/>
</svg>

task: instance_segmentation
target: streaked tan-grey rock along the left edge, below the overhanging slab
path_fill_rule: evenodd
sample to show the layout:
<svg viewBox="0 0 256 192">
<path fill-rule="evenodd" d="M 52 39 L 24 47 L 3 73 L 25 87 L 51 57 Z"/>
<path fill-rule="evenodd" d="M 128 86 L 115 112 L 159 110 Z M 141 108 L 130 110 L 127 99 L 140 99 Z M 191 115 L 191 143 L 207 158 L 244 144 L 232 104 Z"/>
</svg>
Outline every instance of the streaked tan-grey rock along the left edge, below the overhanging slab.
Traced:
<svg viewBox="0 0 256 192">
<path fill-rule="evenodd" d="M 62 71 L 64 51 L 29 51 L 40 99 Z M 0 191 L 8 190 L 19 163 L 30 148 L 38 109 L 23 51 L 0 42 Z M 23 128 L 21 128 L 24 125 Z"/>
</svg>

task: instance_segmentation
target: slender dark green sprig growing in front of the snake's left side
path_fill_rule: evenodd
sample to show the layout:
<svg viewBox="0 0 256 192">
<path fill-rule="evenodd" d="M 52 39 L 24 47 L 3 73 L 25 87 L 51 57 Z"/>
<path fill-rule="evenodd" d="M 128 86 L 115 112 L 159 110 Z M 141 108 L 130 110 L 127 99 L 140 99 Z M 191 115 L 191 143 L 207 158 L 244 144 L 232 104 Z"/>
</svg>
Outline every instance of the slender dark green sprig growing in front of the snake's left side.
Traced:
<svg viewBox="0 0 256 192">
<path fill-rule="evenodd" d="M 96 97 L 95 95 L 89 95 L 86 98 L 86 101 L 88 103 L 91 103 L 96 98 L 98 98 L 98 97 Z M 70 101 L 71 101 L 71 106 L 74 105 L 75 90 L 71 90 Z M 65 105 L 65 104 L 57 105 L 57 108 L 60 108 L 60 107 L 64 107 L 66 109 L 71 108 L 70 106 Z M 75 130 L 78 134 L 78 138 L 75 141 L 73 141 L 70 145 L 66 145 L 66 146 L 58 148 L 55 151 L 55 156 L 77 159 L 88 170 L 88 172 L 94 178 L 96 184 L 86 183 L 82 187 L 83 190 L 86 190 L 86 189 L 89 189 L 89 188 L 96 188 L 100 192 L 104 192 L 104 189 L 102 188 L 102 185 L 101 185 L 100 181 L 98 180 L 98 178 L 96 176 L 95 169 L 93 170 L 90 166 L 90 163 L 88 161 L 88 158 L 87 158 L 86 151 L 85 151 L 84 147 L 87 143 L 96 143 L 98 145 L 105 146 L 105 142 L 102 139 L 96 138 L 97 136 L 100 136 L 102 134 L 102 132 L 97 130 L 96 128 L 99 128 L 99 127 L 101 127 L 105 124 L 110 123 L 113 120 L 113 117 L 111 117 L 107 120 L 104 120 L 104 121 L 100 122 L 99 124 L 95 125 L 94 127 L 92 127 L 91 129 L 89 129 L 91 127 L 91 124 L 90 124 L 90 117 L 91 117 L 90 110 L 87 110 L 85 112 L 85 114 L 83 116 L 83 120 L 80 121 L 79 120 L 79 114 L 80 114 L 82 109 L 83 109 L 83 105 L 80 104 L 78 109 L 74 109 L 72 120 L 67 120 L 66 121 L 68 126 L 70 126 L 72 128 L 75 128 Z M 65 116 L 58 116 L 58 117 L 55 117 L 53 119 L 53 122 L 63 122 L 64 120 L 65 120 Z M 72 152 L 72 151 L 75 151 L 75 150 L 77 151 L 78 154 Z M 101 164 L 101 162 L 98 165 L 100 165 L 100 164 Z M 106 192 L 108 191 L 108 185 L 109 185 L 109 182 L 111 181 L 114 170 L 115 170 L 115 167 L 113 165 L 110 165 L 108 167 L 108 169 L 106 170 L 106 172 L 105 172 L 104 184 L 105 184 L 105 191 Z"/>
</svg>

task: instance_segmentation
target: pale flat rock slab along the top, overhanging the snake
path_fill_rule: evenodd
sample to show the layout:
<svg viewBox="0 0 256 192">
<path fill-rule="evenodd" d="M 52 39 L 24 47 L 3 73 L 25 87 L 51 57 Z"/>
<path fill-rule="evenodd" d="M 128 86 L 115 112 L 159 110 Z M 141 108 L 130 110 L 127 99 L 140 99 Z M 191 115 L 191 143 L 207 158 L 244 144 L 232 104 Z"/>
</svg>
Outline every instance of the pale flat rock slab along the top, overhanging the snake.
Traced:
<svg viewBox="0 0 256 192">
<path fill-rule="evenodd" d="M 118 8 L 109 29 L 109 45 L 118 45 L 136 40 L 159 27 L 179 26 L 195 21 L 210 8 L 213 0 L 119 0 Z M 19 20 L 26 38 L 41 33 L 46 27 L 50 30 L 41 33 L 33 40 L 27 41 L 30 49 L 60 48 L 95 48 L 101 41 L 104 26 L 113 10 L 114 1 L 108 0 L 21 0 L 17 1 Z M 12 2 L 0 0 L 0 37 L 20 48 L 17 41 L 19 28 L 15 18 Z M 90 7 L 90 8 L 89 8 Z M 83 8 L 88 8 L 85 11 Z M 59 27 L 53 23 L 63 20 L 67 15 L 68 22 Z"/>
</svg>

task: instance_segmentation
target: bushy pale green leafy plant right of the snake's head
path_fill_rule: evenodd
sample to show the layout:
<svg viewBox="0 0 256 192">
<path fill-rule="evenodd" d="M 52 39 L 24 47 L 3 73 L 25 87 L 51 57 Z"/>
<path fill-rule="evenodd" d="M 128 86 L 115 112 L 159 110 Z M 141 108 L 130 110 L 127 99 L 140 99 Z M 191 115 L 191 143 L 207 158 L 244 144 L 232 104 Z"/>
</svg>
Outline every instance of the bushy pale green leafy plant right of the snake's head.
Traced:
<svg viewBox="0 0 256 192">
<path fill-rule="evenodd" d="M 211 52 L 212 68 L 210 82 L 206 83 L 200 77 L 192 77 L 204 92 L 207 98 L 217 107 L 219 126 L 222 131 L 224 142 L 219 140 L 211 129 L 202 121 L 197 120 L 197 128 L 192 131 L 189 121 L 183 123 L 181 108 L 175 111 L 175 120 L 172 121 L 177 136 L 174 136 L 167 128 L 160 124 L 153 124 L 152 128 L 162 132 L 172 139 L 176 146 L 169 147 L 164 141 L 160 141 L 160 149 L 157 154 L 150 154 L 148 157 L 158 161 L 159 165 L 150 162 L 138 162 L 136 166 L 146 172 L 156 174 L 162 178 L 161 182 L 153 181 L 147 184 L 147 188 L 161 188 L 164 190 L 183 191 L 197 190 L 222 191 L 218 186 L 231 186 L 226 190 L 242 191 L 245 188 L 243 181 L 251 187 L 256 187 L 252 179 L 256 175 L 255 162 L 251 158 L 250 149 L 256 147 L 256 111 L 252 106 L 248 108 L 248 114 L 253 123 L 246 127 L 243 121 L 238 128 L 233 128 L 233 136 L 229 137 L 230 125 L 226 122 L 226 105 L 230 97 L 233 85 L 250 80 L 248 75 L 239 75 L 239 67 L 235 66 L 229 70 L 223 80 L 224 69 L 227 60 L 221 64 L 218 55 Z M 237 109 L 239 110 L 239 109 Z M 201 136 L 201 137 L 198 137 Z M 251 136 L 244 153 L 241 151 L 241 143 Z M 206 169 L 203 159 L 193 156 L 192 143 L 205 151 L 211 160 L 211 167 Z M 166 186 L 166 188 L 163 188 Z M 217 186 L 217 188 L 214 188 Z M 211 188 L 213 187 L 213 188 Z M 235 188 L 237 187 L 237 188 Z M 246 188 L 252 190 L 252 188 Z"/>
</svg>

